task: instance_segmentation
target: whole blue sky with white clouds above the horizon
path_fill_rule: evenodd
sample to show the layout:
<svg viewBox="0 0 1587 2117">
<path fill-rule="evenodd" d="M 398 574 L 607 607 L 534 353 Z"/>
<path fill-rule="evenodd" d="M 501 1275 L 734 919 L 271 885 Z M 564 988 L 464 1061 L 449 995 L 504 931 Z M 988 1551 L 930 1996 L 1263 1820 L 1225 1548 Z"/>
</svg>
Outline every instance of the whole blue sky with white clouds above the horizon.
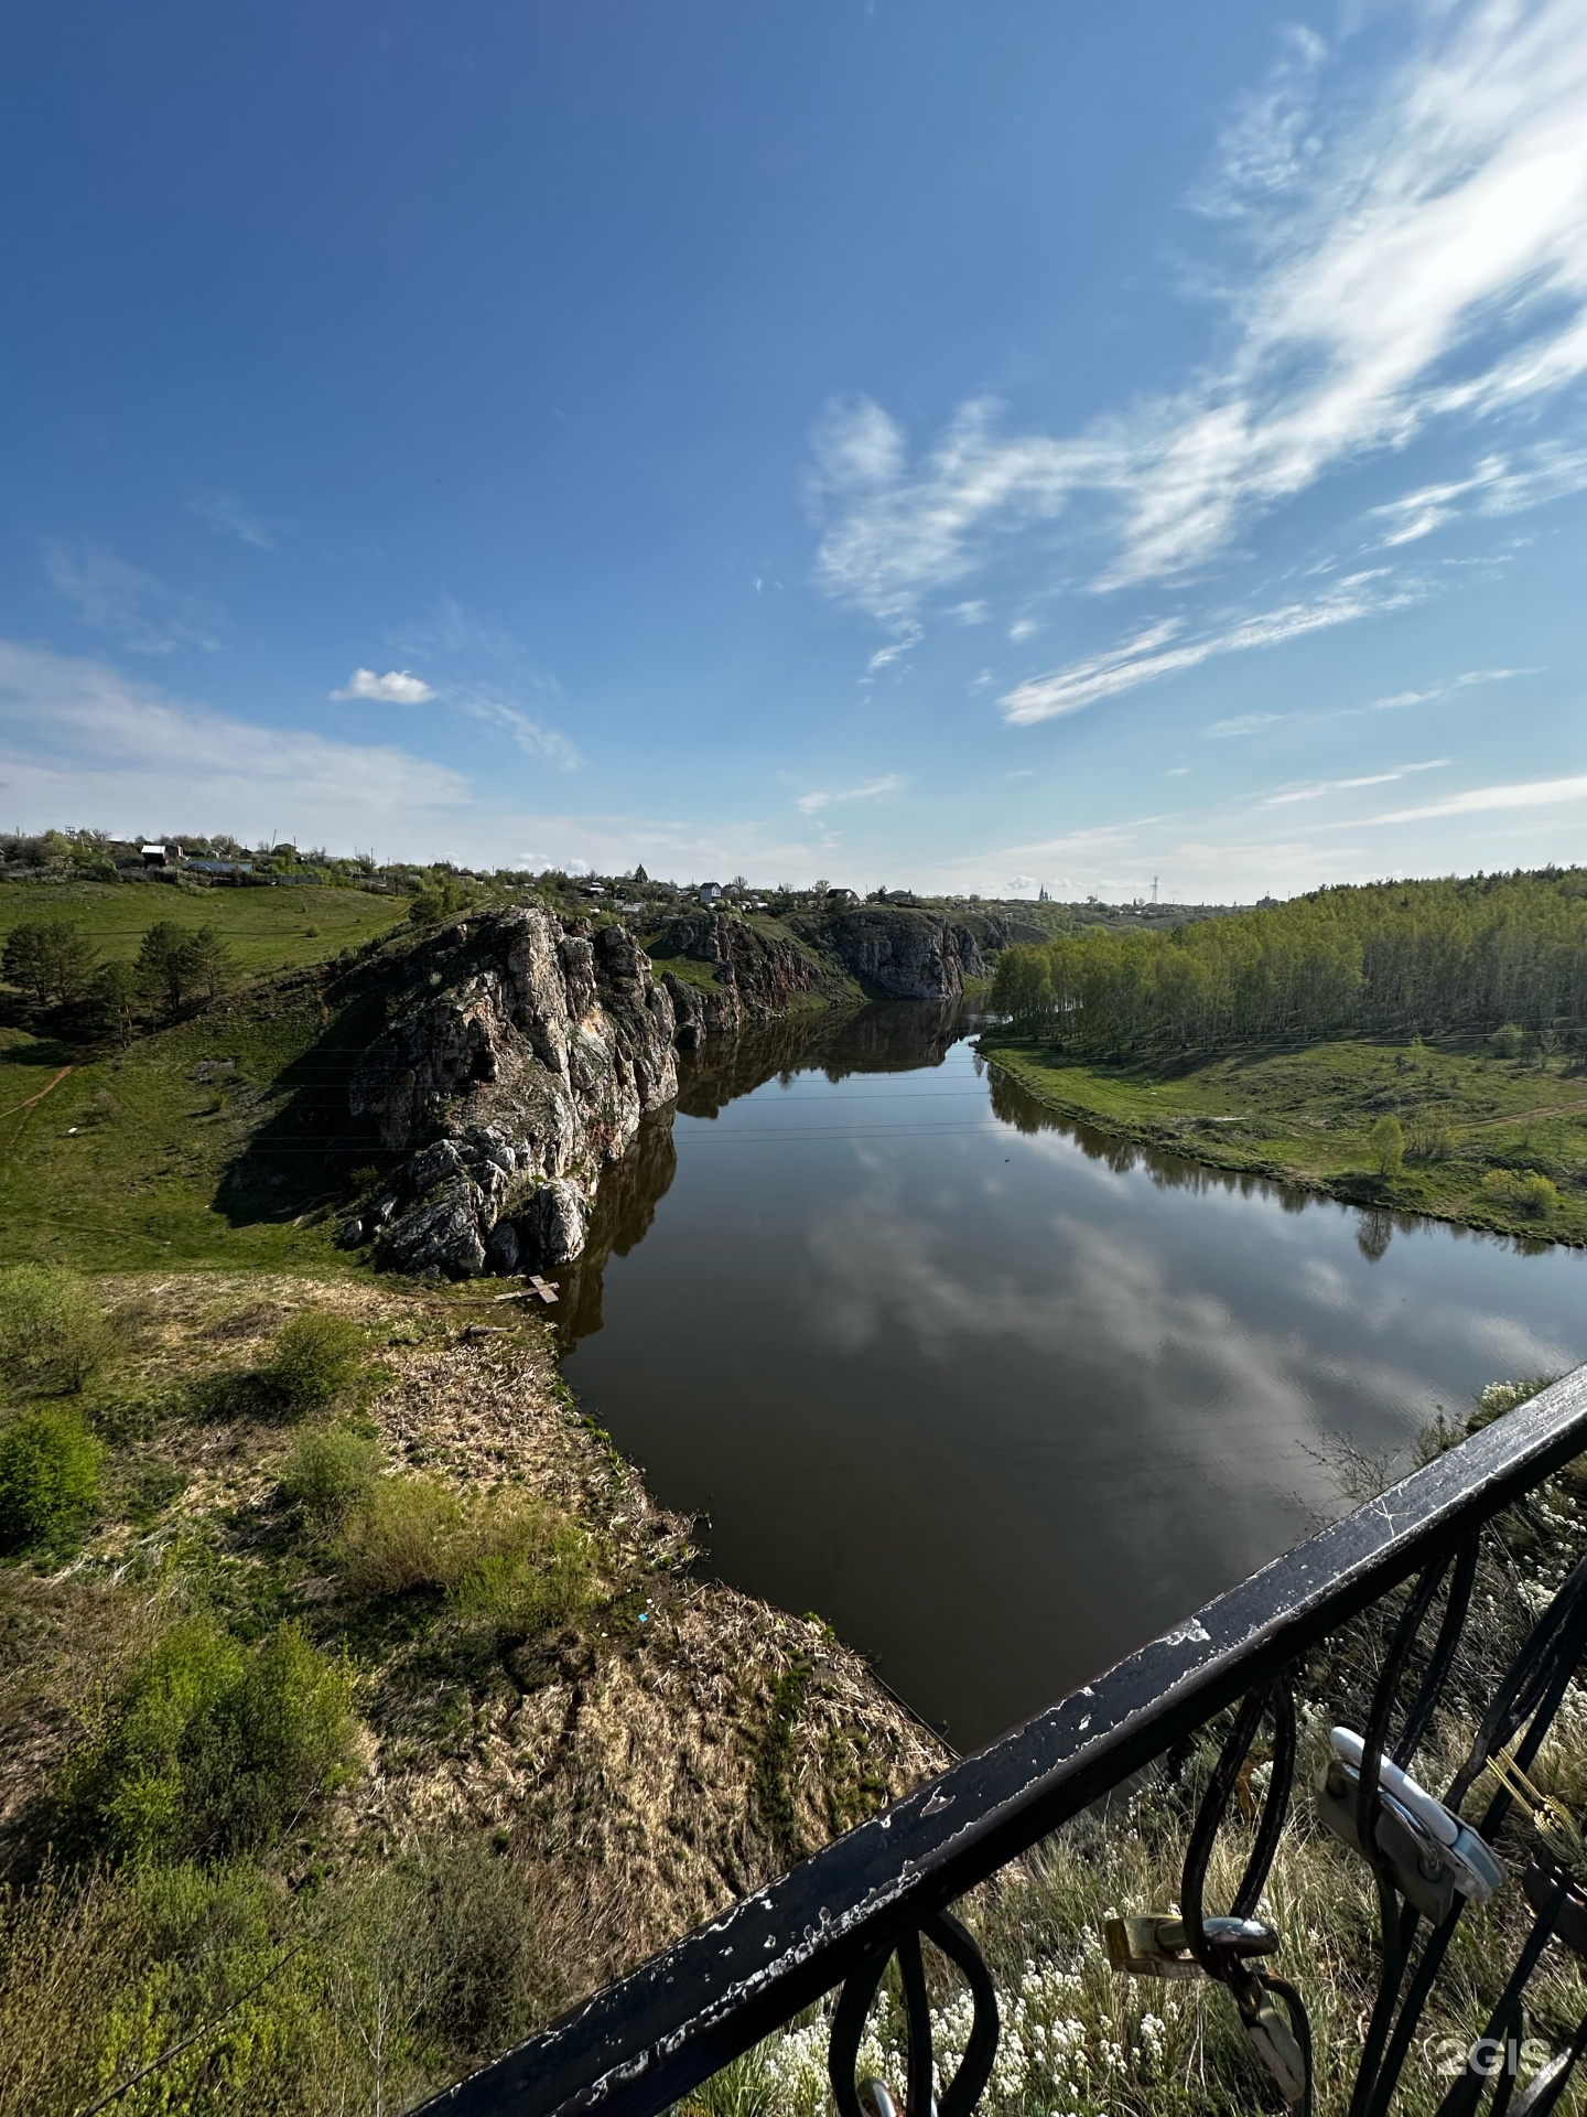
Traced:
<svg viewBox="0 0 1587 2117">
<path fill-rule="evenodd" d="M 6 61 L 0 826 L 1587 857 L 1579 0 L 61 0 Z"/>
</svg>

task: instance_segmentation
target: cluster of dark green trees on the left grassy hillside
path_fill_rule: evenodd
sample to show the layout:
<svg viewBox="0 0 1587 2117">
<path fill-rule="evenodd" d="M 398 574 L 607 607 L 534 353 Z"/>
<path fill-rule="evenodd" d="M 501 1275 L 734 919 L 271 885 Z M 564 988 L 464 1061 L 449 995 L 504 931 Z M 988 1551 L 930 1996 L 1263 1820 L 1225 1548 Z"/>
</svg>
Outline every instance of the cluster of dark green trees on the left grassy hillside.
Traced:
<svg viewBox="0 0 1587 2117">
<path fill-rule="evenodd" d="M 176 1020 L 190 1001 L 218 999 L 237 959 L 214 927 L 157 919 L 131 963 L 104 963 L 74 919 L 23 919 L 6 936 L 0 970 L 40 1008 L 87 1008 L 125 1037 L 140 1001 Z"/>
</svg>

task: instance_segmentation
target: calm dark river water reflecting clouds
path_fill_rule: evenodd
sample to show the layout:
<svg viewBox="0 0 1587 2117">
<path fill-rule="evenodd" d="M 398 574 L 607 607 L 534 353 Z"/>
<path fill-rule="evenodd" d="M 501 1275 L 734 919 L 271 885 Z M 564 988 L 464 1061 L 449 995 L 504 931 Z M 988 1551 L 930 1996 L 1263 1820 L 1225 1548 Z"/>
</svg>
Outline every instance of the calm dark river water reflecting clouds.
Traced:
<svg viewBox="0 0 1587 2117">
<path fill-rule="evenodd" d="M 686 1061 L 561 1274 L 569 1380 L 726 1579 L 971 1749 L 1587 1357 L 1526 1255 L 1066 1124 L 929 1008 Z"/>
</svg>

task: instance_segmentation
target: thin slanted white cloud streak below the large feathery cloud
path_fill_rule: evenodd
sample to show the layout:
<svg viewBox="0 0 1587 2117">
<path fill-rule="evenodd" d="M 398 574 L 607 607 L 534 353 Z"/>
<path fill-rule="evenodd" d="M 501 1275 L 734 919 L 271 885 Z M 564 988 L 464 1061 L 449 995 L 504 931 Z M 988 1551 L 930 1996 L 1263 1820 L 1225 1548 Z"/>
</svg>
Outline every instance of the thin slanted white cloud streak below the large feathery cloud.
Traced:
<svg viewBox="0 0 1587 2117">
<path fill-rule="evenodd" d="M 1384 610 L 1403 610 L 1409 603 L 1420 603 L 1424 595 L 1422 582 L 1394 582 L 1384 567 L 1373 567 L 1348 574 L 1310 603 L 1282 603 L 1278 610 L 1257 612 L 1196 639 L 1181 641 L 1181 620 L 1164 618 L 1105 654 L 1016 684 L 997 703 L 1003 707 L 1003 718 L 1016 726 L 1054 720 L 1060 713 L 1079 713 L 1098 699 L 1113 699 L 1124 690 L 1134 690 L 1136 684 L 1151 684 L 1179 669 L 1196 669 L 1215 654 L 1244 654 L 1251 648 L 1278 646 L 1331 625 L 1352 625 L 1356 618 Z M 1225 722 L 1223 732 L 1244 730 Z"/>
</svg>

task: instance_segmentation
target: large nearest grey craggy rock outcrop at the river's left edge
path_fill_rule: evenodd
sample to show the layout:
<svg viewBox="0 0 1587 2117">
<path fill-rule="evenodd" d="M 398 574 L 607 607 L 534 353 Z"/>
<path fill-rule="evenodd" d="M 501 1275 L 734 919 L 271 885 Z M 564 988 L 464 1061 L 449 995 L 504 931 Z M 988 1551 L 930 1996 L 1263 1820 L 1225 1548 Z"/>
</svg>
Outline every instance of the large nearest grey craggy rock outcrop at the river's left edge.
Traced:
<svg viewBox="0 0 1587 2117">
<path fill-rule="evenodd" d="M 400 1160 L 343 1241 L 453 1277 L 578 1255 L 601 1169 L 677 1092 L 673 1029 L 618 925 L 499 910 L 408 951 L 347 1097 Z"/>
</svg>

